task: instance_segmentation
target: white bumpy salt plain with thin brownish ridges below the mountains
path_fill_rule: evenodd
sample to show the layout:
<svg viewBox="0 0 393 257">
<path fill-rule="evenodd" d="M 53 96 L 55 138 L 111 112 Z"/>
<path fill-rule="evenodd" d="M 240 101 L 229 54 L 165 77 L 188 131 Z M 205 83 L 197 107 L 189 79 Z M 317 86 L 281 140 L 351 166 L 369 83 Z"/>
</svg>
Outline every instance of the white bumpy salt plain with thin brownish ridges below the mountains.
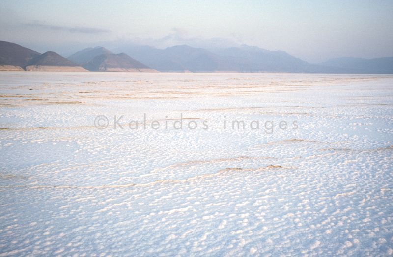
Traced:
<svg viewBox="0 0 393 257">
<path fill-rule="evenodd" d="M 0 96 L 0 256 L 393 254 L 392 75 L 1 72 Z"/>
</svg>

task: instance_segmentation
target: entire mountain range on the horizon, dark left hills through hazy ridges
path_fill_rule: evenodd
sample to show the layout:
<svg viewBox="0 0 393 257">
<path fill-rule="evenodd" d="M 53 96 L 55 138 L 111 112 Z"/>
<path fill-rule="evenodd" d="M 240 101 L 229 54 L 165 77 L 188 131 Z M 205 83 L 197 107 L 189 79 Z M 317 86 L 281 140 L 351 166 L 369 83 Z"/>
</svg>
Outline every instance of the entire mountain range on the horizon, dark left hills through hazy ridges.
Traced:
<svg viewBox="0 0 393 257">
<path fill-rule="evenodd" d="M 127 46 L 116 51 L 122 53 L 114 54 L 104 47 L 86 48 L 64 58 L 55 52 L 40 54 L 0 41 L 0 70 L 393 74 L 393 57 L 345 57 L 311 64 L 284 51 L 247 45 L 210 51 L 187 45 L 166 49 Z"/>
</svg>

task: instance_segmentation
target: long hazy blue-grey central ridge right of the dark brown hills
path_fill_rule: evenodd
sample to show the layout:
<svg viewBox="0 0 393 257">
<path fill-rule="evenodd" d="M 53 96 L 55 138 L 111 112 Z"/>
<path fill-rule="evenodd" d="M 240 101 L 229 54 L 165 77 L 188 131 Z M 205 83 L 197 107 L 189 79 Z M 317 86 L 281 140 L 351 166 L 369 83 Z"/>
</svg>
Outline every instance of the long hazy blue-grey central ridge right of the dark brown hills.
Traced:
<svg viewBox="0 0 393 257">
<path fill-rule="evenodd" d="M 284 51 L 269 51 L 247 45 L 211 51 L 187 45 L 166 49 L 128 46 L 118 48 L 117 51 L 124 51 L 161 72 L 363 73 L 362 69 L 356 67 L 311 64 Z"/>
</svg>

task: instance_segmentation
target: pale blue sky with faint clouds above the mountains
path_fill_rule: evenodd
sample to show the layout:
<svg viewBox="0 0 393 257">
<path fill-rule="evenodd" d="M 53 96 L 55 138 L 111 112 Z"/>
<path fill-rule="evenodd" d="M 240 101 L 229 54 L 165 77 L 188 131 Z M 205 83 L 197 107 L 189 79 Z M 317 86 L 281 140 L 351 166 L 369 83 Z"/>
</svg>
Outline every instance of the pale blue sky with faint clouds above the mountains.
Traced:
<svg viewBox="0 0 393 257">
<path fill-rule="evenodd" d="M 241 44 L 309 62 L 393 56 L 393 1 L 1 0 L 0 40 L 67 55 L 85 47 Z"/>
</svg>

